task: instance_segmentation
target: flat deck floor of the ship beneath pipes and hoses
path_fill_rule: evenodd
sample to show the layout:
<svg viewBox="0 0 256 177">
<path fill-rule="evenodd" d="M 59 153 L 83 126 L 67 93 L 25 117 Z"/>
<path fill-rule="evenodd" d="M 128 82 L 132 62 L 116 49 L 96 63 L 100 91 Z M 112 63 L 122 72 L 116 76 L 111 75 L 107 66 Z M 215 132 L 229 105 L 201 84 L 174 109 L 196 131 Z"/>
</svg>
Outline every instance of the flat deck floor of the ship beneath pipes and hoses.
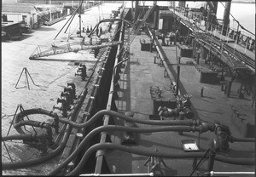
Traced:
<svg viewBox="0 0 256 177">
<path fill-rule="evenodd" d="M 154 112 L 154 102 L 151 100 L 150 86 L 164 86 L 170 88 L 170 80 L 164 77 L 164 67 L 160 66 L 160 60 L 154 64 L 154 56 L 156 52 L 141 51 L 140 40 L 147 39 L 148 36 L 142 33 L 134 39 L 131 43 L 130 60 L 119 80 L 119 99 L 115 100 L 118 111 L 132 111 L 134 118 L 149 120 L 149 115 Z M 171 71 L 173 76 L 176 77 L 176 48 L 173 45 L 163 46 L 163 50 L 171 63 Z M 177 48 L 177 54 L 179 54 Z M 242 137 L 238 128 L 243 126 L 243 123 L 235 123 L 236 115 L 232 110 L 232 106 L 239 109 L 240 113 L 245 113 L 245 118 L 248 122 L 254 124 L 253 120 L 253 107 L 251 107 L 251 100 L 239 99 L 236 94 L 238 83 L 234 83 L 231 90 L 230 98 L 220 91 L 219 84 L 205 84 L 199 83 L 198 78 L 195 77 L 195 66 L 188 65 L 186 61 L 193 61 L 191 58 L 182 58 L 180 81 L 181 93 L 192 94 L 190 99 L 194 107 L 195 118 L 211 122 L 211 123 L 225 123 L 230 127 L 231 134 L 235 137 Z M 204 90 L 204 97 L 201 97 L 201 85 L 207 89 Z M 236 120 L 235 120 L 236 121 Z M 124 125 L 122 121 L 116 120 L 117 124 Z M 138 128 L 149 128 L 151 126 L 137 123 Z M 161 133 L 144 133 L 137 134 L 136 144 L 131 144 L 131 148 L 136 147 L 161 152 L 183 152 L 181 144 L 182 140 L 195 140 L 200 146 L 201 151 L 207 151 L 211 140 L 215 137 L 212 132 L 199 133 L 183 133 L 179 135 L 177 132 L 161 132 Z M 113 143 L 122 144 L 124 133 L 114 133 L 111 136 Z M 200 141 L 200 142 L 199 142 Z M 221 152 L 223 153 L 223 152 Z M 230 144 L 230 152 L 223 153 L 228 157 L 253 157 L 254 144 L 253 143 L 233 143 Z M 108 168 L 112 173 L 116 174 L 141 174 L 147 173 L 148 167 L 145 166 L 148 157 L 130 154 L 122 151 L 107 150 L 106 160 Z M 167 159 L 163 158 L 166 163 L 165 167 L 161 163 L 160 170 L 154 171 L 154 174 L 160 175 L 160 171 L 168 176 L 187 176 L 193 171 L 193 163 L 195 159 Z M 200 159 L 197 159 L 197 162 Z M 207 169 L 207 161 L 201 165 L 201 170 Z M 215 161 L 215 171 L 254 171 L 254 167 L 229 165 Z"/>
</svg>

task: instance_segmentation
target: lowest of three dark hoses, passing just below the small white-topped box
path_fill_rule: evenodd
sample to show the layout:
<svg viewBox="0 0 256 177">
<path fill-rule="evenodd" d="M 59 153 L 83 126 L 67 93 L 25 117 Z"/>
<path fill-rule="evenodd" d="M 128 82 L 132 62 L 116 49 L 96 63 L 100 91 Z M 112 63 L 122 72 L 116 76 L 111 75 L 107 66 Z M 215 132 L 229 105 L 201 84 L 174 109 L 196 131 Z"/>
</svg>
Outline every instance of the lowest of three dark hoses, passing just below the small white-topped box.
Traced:
<svg viewBox="0 0 256 177">
<path fill-rule="evenodd" d="M 161 152 L 161 151 L 148 151 L 145 148 L 137 148 L 131 146 L 121 146 L 114 143 L 96 144 L 91 146 L 88 151 L 84 153 L 79 165 L 73 169 L 67 176 L 78 175 L 81 169 L 84 169 L 84 164 L 88 161 L 90 155 L 99 149 L 113 149 L 118 151 L 125 151 L 132 154 L 137 154 L 146 157 L 162 157 L 162 158 L 200 158 L 203 157 L 205 152 Z M 222 155 L 216 155 L 215 160 L 238 165 L 254 165 L 254 158 L 230 158 Z"/>
</svg>

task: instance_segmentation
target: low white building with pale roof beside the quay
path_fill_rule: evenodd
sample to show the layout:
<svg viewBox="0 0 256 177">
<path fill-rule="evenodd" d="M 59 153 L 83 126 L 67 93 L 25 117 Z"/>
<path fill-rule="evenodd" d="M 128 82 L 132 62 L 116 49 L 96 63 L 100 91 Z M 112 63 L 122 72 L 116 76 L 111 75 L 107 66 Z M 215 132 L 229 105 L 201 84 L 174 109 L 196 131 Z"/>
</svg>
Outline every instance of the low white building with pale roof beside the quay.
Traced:
<svg viewBox="0 0 256 177">
<path fill-rule="evenodd" d="M 2 21 L 20 22 L 24 20 L 26 25 L 38 28 L 38 9 L 31 4 L 3 3 Z"/>
</svg>

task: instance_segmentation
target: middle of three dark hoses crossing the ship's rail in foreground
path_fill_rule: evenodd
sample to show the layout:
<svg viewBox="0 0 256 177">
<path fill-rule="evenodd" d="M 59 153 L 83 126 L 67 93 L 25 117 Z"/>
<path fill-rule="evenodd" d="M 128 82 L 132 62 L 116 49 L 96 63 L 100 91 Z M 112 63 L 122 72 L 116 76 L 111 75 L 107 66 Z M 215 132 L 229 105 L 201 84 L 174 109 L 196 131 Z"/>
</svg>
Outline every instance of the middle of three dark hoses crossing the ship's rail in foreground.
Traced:
<svg viewBox="0 0 256 177">
<path fill-rule="evenodd" d="M 48 175 L 56 175 L 60 172 L 62 168 L 65 168 L 68 163 L 73 160 L 73 157 L 76 157 L 79 151 L 84 150 L 84 146 L 86 143 L 94 137 L 96 134 L 99 134 L 104 131 L 130 131 L 130 132 L 137 132 L 137 133 L 152 133 L 152 132 L 166 132 L 166 131 L 183 131 L 183 132 L 190 132 L 190 131 L 200 131 L 201 127 L 195 126 L 168 126 L 168 127 L 157 127 L 157 128 L 128 128 L 124 126 L 118 125 L 108 125 L 108 126 L 101 126 L 98 128 L 93 129 L 89 134 L 87 134 L 84 140 L 81 141 L 79 146 L 73 151 L 73 153 L 67 157 L 67 159 L 61 163 L 57 168 L 51 171 Z"/>
</svg>

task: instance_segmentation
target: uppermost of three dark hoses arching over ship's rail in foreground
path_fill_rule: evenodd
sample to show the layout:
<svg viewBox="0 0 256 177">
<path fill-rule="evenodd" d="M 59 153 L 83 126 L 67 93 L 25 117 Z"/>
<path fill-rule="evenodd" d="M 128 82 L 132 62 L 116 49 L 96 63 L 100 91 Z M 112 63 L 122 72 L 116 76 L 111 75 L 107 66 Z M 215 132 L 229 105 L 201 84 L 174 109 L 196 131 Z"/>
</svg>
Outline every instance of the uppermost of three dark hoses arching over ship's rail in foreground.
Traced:
<svg viewBox="0 0 256 177">
<path fill-rule="evenodd" d="M 60 118 L 61 123 L 67 123 L 75 128 L 84 128 L 88 126 L 88 124 L 95 122 L 96 119 L 101 118 L 104 115 L 109 115 L 113 117 L 119 117 L 125 119 L 125 121 L 133 122 L 133 123 L 143 123 L 149 125 L 196 125 L 196 120 L 165 120 L 165 121 L 156 121 L 156 120 L 141 120 L 138 118 L 128 117 L 122 113 L 116 111 L 102 110 L 98 111 L 93 117 L 90 118 L 86 123 L 75 123 L 73 121 L 67 120 L 65 118 Z"/>
</svg>

